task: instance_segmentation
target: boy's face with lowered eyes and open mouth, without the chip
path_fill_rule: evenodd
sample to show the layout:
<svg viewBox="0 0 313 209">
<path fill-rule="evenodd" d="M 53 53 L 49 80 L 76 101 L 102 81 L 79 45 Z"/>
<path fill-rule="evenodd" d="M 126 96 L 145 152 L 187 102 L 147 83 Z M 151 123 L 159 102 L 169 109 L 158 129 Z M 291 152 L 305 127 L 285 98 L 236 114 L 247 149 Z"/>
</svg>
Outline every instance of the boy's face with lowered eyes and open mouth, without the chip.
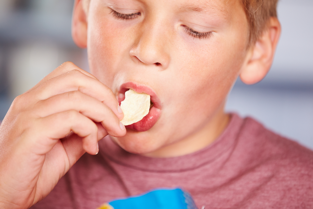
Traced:
<svg viewBox="0 0 313 209">
<path fill-rule="evenodd" d="M 128 88 L 151 94 L 148 118 L 114 138 L 146 154 L 195 136 L 223 110 L 248 23 L 239 1 L 91 0 L 87 37 L 90 71 L 119 102 Z"/>
</svg>

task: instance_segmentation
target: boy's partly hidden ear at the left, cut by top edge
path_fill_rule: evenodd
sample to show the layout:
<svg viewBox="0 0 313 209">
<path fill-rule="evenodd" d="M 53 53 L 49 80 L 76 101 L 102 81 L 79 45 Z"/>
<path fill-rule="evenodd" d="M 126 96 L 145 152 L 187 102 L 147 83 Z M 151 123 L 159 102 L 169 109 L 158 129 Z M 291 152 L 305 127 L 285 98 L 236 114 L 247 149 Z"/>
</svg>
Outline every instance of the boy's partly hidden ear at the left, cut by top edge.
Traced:
<svg viewBox="0 0 313 209">
<path fill-rule="evenodd" d="M 72 38 L 80 48 L 87 47 L 87 16 L 83 8 L 83 0 L 75 0 L 72 17 Z"/>
</svg>

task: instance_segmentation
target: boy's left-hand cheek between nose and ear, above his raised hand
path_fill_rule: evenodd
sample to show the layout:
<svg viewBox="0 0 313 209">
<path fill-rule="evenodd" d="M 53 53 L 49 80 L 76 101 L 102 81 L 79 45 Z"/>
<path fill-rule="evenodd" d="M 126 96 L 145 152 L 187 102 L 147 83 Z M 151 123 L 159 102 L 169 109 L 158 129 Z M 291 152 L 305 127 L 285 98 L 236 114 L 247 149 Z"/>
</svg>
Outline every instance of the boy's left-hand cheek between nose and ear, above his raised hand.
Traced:
<svg viewBox="0 0 313 209">
<path fill-rule="evenodd" d="M 121 26 L 114 24 L 111 18 L 101 15 L 101 12 L 95 11 L 92 14 L 87 43 L 90 71 L 110 87 L 117 73 L 116 69 L 129 57 L 133 40 L 129 31 L 131 29 L 121 29 Z"/>
</svg>

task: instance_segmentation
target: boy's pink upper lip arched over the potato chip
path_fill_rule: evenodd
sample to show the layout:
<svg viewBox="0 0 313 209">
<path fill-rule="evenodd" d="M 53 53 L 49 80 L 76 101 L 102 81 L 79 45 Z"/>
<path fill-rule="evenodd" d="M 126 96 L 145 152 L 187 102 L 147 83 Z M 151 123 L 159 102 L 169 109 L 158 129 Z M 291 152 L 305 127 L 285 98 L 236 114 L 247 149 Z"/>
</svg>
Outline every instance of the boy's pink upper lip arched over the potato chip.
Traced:
<svg viewBox="0 0 313 209">
<path fill-rule="evenodd" d="M 132 89 L 136 91 L 137 93 L 145 93 L 145 94 L 150 95 L 150 100 L 153 103 L 153 106 L 155 106 L 158 109 L 161 109 L 161 106 L 162 106 L 161 101 L 157 97 L 156 92 L 153 91 L 150 87 L 137 84 L 134 82 L 126 82 L 120 86 L 118 93 L 125 94 L 125 92 L 128 91 L 129 89 Z"/>
</svg>

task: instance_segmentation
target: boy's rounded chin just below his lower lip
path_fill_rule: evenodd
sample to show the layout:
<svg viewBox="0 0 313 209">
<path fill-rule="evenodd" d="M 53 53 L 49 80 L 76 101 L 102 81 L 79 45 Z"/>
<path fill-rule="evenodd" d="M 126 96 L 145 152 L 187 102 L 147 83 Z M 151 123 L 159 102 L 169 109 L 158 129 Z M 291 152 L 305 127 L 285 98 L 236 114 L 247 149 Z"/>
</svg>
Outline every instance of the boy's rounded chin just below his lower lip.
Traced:
<svg viewBox="0 0 313 209">
<path fill-rule="evenodd" d="M 123 137 L 113 137 L 121 148 L 127 152 L 133 154 L 148 154 L 157 149 L 160 149 L 163 145 L 163 141 L 160 140 L 162 137 L 154 137 L 151 131 L 138 132 L 127 128 L 127 133 Z M 157 136 L 157 134 L 156 134 Z"/>
</svg>

